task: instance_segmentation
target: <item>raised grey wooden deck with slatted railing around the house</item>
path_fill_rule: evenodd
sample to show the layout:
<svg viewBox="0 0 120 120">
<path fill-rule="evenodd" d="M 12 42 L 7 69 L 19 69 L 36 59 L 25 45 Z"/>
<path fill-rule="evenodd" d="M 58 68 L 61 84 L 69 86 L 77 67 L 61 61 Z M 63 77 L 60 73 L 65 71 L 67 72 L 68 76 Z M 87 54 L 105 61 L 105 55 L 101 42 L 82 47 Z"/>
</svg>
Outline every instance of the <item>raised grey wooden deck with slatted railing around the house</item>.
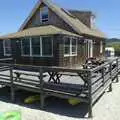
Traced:
<svg viewBox="0 0 120 120">
<path fill-rule="evenodd" d="M 109 60 L 94 69 L 25 66 L 0 62 L 0 84 L 11 88 L 11 100 L 15 91 L 23 89 L 40 94 L 41 108 L 47 96 L 77 98 L 88 104 L 89 117 L 92 106 L 109 88 L 120 71 L 120 58 Z"/>
</svg>

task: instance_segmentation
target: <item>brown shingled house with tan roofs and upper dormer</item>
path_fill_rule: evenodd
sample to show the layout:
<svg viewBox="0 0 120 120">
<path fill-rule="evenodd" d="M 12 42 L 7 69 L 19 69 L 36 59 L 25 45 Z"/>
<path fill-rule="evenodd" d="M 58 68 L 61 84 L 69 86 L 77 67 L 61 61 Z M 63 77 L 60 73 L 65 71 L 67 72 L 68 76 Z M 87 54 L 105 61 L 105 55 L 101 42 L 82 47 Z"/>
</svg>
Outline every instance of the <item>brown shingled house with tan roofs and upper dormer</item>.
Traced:
<svg viewBox="0 0 120 120">
<path fill-rule="evenodd" d="M 89 57 L 102 58 L 106 37 L 93 26 L 94 17 L 89 11 L 66 11 L 52 1 L 39 1 L 18 32 L 0 37 L 0 58 L 8 57 L 3 48 L 3 40 L 7 39 L 11 40 L 12 57 L 17 64 L 72 67 L 85 63 Z M 52 54 L 49 43 L 53 45 Z"/>
</svg>

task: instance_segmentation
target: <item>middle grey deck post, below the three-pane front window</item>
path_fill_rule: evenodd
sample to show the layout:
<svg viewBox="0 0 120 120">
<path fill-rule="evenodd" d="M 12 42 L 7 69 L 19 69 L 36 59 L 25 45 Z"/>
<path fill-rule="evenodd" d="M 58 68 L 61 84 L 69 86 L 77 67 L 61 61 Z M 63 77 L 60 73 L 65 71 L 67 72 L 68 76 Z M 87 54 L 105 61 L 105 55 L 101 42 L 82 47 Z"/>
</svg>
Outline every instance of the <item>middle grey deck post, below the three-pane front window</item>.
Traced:
<svg viewBox="0 0 120 120">
<path fill-rule="evenodd" d="M 41 104 L 41 109 L 44 108 L 44 91 L 43 91 L 43 84 L 44 84 L 44 81 L 43 81 L 43 69 L 40 68 L 40 104 Z"/>
</svg>

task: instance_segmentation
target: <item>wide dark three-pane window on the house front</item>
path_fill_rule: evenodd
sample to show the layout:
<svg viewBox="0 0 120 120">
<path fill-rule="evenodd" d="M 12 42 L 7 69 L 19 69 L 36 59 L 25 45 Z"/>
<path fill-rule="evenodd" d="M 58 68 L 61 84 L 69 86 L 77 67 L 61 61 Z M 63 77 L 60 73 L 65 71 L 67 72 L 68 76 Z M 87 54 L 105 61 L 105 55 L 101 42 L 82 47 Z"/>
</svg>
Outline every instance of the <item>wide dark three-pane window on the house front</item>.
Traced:
<svg viewBox="0 0 120 120">
<path fill-rule="evenodd" d="M 21 49 L 23 56 L 51 57 L 53 56 L 52 37 L 32 37 L 22 39 Z"/>
</svg>

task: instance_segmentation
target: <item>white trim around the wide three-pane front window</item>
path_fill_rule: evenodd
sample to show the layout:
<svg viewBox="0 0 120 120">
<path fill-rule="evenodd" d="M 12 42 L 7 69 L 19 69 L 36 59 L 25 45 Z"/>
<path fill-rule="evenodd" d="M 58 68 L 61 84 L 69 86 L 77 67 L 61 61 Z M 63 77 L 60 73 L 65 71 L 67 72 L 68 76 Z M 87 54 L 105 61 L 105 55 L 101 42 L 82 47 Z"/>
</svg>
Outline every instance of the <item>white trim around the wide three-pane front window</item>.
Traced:
<svg viewBox="0 0 120 120">
<path fill-rule="evenodd" d="M 49 36 L 44 36 L 44 37 L 49 37 Z M 28 55 L 23 54 L 23 46 L 22 46 L 22 40 L 21 40 L 21 56 L 23 56 L 23 57 L 53 57 L 53 37 L 51 40 L 52 40 L 52 54 L 51 55 L 43 55 L 43 53 L 42 53 L 42 37 L 40 37 L 40 55 L 32 54 L 32 37 L 29 38 L 30 54 L 28 54 Z"/>
</svg>

